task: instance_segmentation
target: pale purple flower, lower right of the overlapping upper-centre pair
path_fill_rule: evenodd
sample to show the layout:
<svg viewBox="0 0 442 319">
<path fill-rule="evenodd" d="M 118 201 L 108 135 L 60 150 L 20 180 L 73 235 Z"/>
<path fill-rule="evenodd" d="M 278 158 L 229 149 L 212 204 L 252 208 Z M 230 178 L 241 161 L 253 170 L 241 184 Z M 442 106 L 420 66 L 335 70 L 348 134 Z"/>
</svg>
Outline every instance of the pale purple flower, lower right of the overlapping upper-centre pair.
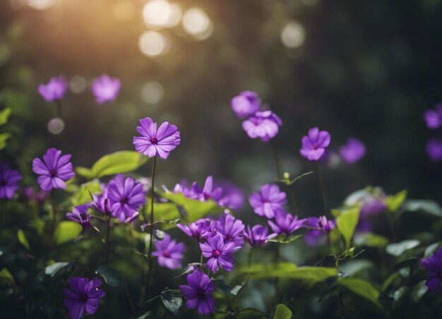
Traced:
<svg viewBox="0 0 442 319">
<path fill-rule="evenodd" d="M 249 138 L 261 138 L 263 142 L 268 142 L 277 135 L 282 126 L 282 121 L 272 111 L 256 112 L 249 119 L 242 122 L 242 128 Z"/>
</svg>

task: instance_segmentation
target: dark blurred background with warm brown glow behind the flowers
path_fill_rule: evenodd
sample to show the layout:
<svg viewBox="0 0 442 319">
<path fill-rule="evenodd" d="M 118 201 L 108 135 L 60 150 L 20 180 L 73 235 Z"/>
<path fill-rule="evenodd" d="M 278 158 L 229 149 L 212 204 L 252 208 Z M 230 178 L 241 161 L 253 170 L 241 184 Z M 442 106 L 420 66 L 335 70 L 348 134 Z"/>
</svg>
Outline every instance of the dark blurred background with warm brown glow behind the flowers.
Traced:
<svg viewBox="0 0 442 319">
<path fill-rule="evenodd" d="M 114 13 L 121 2 L 132 4 L 125 19 Z M 159 162 L 159 183 L 203 183 L 213 174 L 249 194 L 275 177 L 270 144 L 249 139 L 230 108 L 234 95 L 255 90 L 284 122 L 275 143 L 292 176 L 313 169 L 299 155 L 312 126 L 330 132 L 330 150 L 350 136 L 366 143 L 362 162 L 324 169 L 332 206 L 367 185 L 438 200 L 441 166 L 428 159 L 425 144 L 439 133 L 426 128 L 423 112 L 442 100 L 442 1 L 171 1 L 183 12 L 203 8 L 213 34 L 196 41 L 181 25 L 157 30 L 170 50 L 154 58 L 138 49 L 149 30 L 145 2 L 56 0 L 37 10 L 0 1 L 0 103 L 13 109 L 15 135 L 1 158 L 26 173 L 33 157 L 55 146 L 73 154 L 74 166 L 90 167 L 109 152 L 133 150 L 138 119 L 150 116 L 181 131 L 179 148 Z M 280 40 L 288 20 L 304 26 L 296 49 Z M 66 128 L 49 133 L 55 107 L 37 86 L 60 74 L 89 80 L 102 73 L 121 79 L 118 99 L 98 105 L 89 89 L 68 92 Z M 156 104 L 140 95 L 150 81 L 164 88 Z M 293 191 L 301 215 L 321 212 L 315 176 Z"/>
</svg>

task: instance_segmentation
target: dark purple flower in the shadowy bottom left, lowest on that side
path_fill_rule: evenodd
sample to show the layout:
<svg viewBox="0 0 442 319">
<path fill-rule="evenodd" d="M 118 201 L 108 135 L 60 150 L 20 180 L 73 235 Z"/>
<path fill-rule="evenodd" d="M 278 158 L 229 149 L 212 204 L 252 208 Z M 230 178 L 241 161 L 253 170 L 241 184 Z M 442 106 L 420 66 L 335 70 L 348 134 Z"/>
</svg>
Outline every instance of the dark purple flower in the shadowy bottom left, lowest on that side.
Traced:
<svg viewBox="0 0 442 319">
<path fill-rule="evenodd" d="M 72 319 L 80 319 L 83 314 L 92 315 L 97 312 L 100 306 L 100 299 L 106 294 L 98 289 L 102 284 L 101 280 L 95 277 L 88 278 L 72 277 L 69 280 L 69 288 L 63 289 L 63 304 L 68 308 L 68 315 Z"/>
</svg>

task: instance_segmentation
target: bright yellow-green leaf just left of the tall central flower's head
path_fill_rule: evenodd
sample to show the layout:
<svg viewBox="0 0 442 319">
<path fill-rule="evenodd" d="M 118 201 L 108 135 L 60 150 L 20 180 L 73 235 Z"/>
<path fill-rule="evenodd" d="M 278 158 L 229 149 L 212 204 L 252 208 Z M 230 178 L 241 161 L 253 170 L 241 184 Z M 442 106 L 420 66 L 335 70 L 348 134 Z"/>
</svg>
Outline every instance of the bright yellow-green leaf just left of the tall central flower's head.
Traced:
<svg viewBox="0 0 442 319">
<path fill-rule="evenodd" d="M 147 156 L 144 156 L 136 151 L 123 150 L 104 155 L 92 165 L 90 171 L 92 172 L 92 176 L 98 179 L 102 176 L 135 171 L 138 169 L 138 167 L 145 164 L 145 162 L 148 162 Z"/>
</svg>

